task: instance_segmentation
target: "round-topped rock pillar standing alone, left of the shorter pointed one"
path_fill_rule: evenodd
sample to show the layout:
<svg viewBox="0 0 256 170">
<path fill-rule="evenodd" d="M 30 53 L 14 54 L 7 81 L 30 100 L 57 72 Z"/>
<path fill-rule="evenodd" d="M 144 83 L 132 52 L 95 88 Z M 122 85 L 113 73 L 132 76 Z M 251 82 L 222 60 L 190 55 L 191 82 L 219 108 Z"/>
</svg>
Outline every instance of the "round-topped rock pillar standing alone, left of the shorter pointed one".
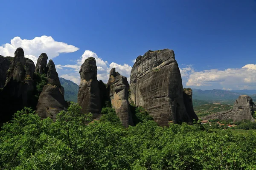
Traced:
<svg viewBox="0 0 256 170">
<path fill-rule="evenodd" d="M 101 99 L 95 58 L 87 58 L 81 65 L 79 73 L 81 82 L 77 100 L 82 108 L 81 113 L 91 112 L 93 113 L 93 119 L 96 119 L 100 116 Z"/>
</svg>

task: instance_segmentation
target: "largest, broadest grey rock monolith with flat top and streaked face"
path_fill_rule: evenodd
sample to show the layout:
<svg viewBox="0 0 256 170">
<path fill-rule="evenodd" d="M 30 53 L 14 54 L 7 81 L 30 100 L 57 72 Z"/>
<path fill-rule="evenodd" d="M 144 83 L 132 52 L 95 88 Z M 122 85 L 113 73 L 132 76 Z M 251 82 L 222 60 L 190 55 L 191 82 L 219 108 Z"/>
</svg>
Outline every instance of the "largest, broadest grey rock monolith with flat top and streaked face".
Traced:
<svg viewBox="0 0 256 170">
<path fill-rule="evenodd" d="M 180 70 L 173 50 L 148 51 L 131 70 L 131 99 L 161 126 L 193 120 L 186 111 Z M 193 116 L 192 116 L 193 117 Z"/>
</svg>

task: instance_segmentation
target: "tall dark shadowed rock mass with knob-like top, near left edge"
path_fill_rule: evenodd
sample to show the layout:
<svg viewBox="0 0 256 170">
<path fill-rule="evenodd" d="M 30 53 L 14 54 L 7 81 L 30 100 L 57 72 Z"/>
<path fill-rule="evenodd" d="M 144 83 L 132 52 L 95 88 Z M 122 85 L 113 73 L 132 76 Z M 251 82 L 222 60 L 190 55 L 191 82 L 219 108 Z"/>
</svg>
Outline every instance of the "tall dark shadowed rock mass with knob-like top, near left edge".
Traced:
<svg viewBox="0 0 256 170">
<path fill-rule="evenodd" d="M 13 113 L 28 106 L 33 91 L 33 73 L 35 65 L 25 59 L 22 48 L 17 48 L 15 57 L 6 73 L 6 81 L 0 93 L 0 123 L 9 121 Z"/>
</svg>

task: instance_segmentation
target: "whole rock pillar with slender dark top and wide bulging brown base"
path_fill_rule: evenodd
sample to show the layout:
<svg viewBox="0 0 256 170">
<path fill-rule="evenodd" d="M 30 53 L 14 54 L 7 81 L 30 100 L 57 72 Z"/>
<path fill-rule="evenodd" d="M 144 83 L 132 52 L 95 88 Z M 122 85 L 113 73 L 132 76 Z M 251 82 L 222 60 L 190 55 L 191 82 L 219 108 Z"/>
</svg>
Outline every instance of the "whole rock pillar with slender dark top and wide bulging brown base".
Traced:
<svg viewBox="0 0 256 170">
<path fill-rule="evenodd" d="M 47 55 L 45 54 L 43 57 L 45 56 Z M 41 61 L 44 61 L 43 59 Z M 43 74 L 44 71 L 47 70 L 47 85 L 44 85 L 44 88 L 39 96 L 38 104 L 36 106 L 36 113 L 42 119 L 47 117 L 56 119 L 56 115 L 60 111 L 67 109 L 67 103 L 64 99 L 64 88 L 61 88 L 61 83 L 58 78 L 55 64 L 51 59 L 49 60 L 47 66 L 45 65 L 45 68 L 41 67 L 40 69 L 41 70 L 39 70 L 39 72 L 43 71 L 41 72 Z"/>
</svg>

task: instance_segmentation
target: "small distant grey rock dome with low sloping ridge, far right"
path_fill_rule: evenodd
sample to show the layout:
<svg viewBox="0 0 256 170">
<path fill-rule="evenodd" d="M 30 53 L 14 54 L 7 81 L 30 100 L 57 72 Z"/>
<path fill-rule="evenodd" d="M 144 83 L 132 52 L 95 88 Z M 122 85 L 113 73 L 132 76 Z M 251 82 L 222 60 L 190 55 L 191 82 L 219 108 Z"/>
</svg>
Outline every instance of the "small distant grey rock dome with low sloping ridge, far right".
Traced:
<svg viewBox="0 0 256 170">
<path fill-rule="evenodd" d="M 209 119 L 221 119 L 221 120 L 227 120 L 227 119 L 233 119 L 234 122 L 241 121 L 244 119 L 254 121 L 253 119 L 253 113 L 254 113 L 255 104 L 253 103 L 253 99 L 250 96 L 247 95 L 241 95 L 238 99 L 236 99 L 236 102 L 234 103 L 234 106 L 229 111 L 222 111 L 218 113 L 214 113 L 208 116 L 204 116 L 201 119 L 203 120 L 209 120 Z"/>
</svg>

